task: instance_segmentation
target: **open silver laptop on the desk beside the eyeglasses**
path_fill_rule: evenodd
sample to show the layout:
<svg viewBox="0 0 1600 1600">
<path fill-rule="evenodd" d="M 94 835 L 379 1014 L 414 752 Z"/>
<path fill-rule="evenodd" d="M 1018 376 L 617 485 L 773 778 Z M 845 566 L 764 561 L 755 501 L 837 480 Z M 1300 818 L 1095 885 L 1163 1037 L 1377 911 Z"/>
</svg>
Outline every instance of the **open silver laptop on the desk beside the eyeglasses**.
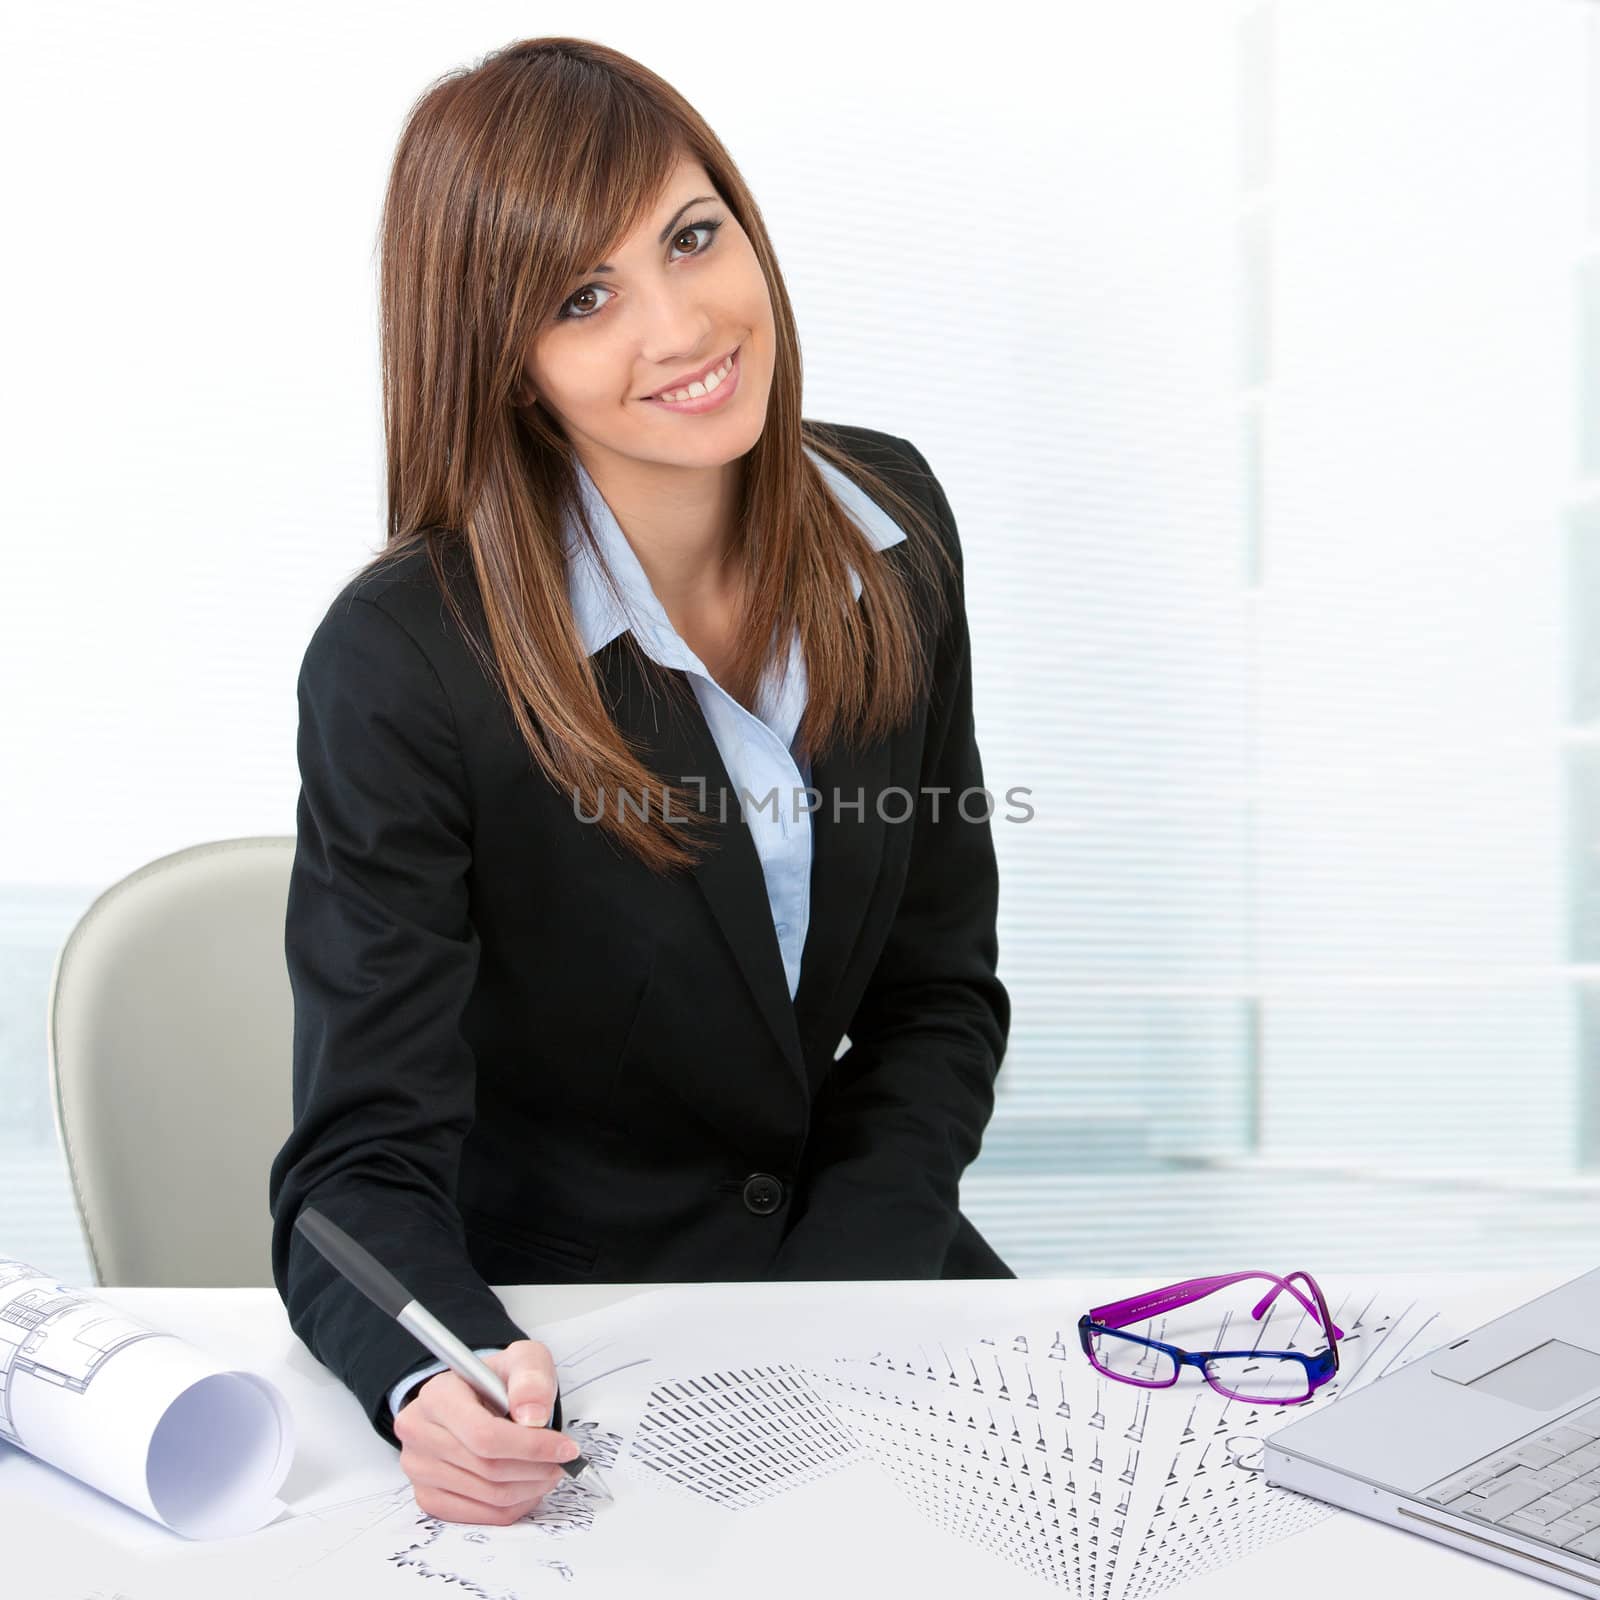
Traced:
<svg viewBox="0 0 1600 1600">
<path fill-rule="evenodd" d="M 1600 1267 L 1280 1427 L 1262 1469 L 1600 1597 Z"/>
</svg>

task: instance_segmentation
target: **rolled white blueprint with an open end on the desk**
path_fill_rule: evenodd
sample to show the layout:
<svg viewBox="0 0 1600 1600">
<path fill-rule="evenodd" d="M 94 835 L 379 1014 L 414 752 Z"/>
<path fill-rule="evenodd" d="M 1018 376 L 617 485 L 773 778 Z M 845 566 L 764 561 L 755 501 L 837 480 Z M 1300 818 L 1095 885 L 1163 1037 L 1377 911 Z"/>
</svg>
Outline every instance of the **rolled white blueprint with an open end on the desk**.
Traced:
<svg viewBox="0 0 1600 1600">
<path fill-rule="evenodd" d="M 282 1510 L 283 1395 L 83 1290 L 0 1256 L 0 1438 L 189 1539 Z"/>
</svg>

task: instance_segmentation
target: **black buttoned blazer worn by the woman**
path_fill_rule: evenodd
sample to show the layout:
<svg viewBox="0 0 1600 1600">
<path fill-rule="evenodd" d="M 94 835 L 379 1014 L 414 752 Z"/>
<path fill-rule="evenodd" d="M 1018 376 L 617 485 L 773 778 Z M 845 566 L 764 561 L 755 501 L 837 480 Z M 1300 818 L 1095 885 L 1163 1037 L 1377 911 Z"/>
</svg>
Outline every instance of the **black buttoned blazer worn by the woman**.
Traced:
<svg viewBox="0 0 1600 1600">
<path fill-rule="evenodd" d="M 960 560 L 912 445 L 813 426 L 920 499 Z M 270 1174 L 272 1269 L 291 1326 L 384 1438 L 389 1389 L 430 1357 L 294 1229 L 306 1202 L 477 1347 L 526 1338 L 490 1283 L 1014 1277 L 958 1208 L 1010 1002 L 990 827 L 955 805 L 982 770 L 965 584 L 946 582 L 928 699 L 891 738 L 813 763 L 794 1000 L 686 682 L 674 712 L 626 638 L 597 653 L 646 766 L 706 778 L 714 819 L 730 797 L 715 854 L 659 878 L 536 768 L 424 552 L 328 608 L 299 674 L 294 1128 Z M 917 797 L 907 821 L 885 821 L 898 797 L 880 814 L 886 787 Z M 866 803 L 835 819 L 835 790 Z"/>
</svg>

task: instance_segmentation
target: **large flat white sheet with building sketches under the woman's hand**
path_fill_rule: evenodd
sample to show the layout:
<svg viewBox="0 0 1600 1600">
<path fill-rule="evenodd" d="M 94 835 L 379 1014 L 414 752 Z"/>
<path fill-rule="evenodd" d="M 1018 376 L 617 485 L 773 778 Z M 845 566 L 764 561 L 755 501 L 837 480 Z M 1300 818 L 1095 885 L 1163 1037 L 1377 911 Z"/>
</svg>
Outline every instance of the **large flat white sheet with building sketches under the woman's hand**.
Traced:
<svg viewBox="0 0 1600 1600">
<path fill-rule="evenodd" d="M 949 1302 L 930 1326 L 915 1285 L 786 1288 L 661 1290 L 530 1330 L 555 1357 L 565 1432 L 614 1502 L 566 1483 L 510 1528 L 451 1523 L 418 1509 L 397 1467 L 381 1491 L 296 1501 L 226 1547 L 118 1574 L 117 1590 L 632 1600 L 754 1581 L 808 1600 L 880 1586 L 1037 1600 L 1040 1584 L 1139 1600 L 1333 1514 L 1259 1470 L 1264 1437 L 1307 1406 L 1232 1402 L 1194 1371 L 1166 1390 L 1107 1381 L 1077 1344 L 1085 1306 L 1019 1291 L 984 1331 L 982 1314 Z M 1413 1301 L 1323 1288 L 1341 1371 L 1310 1405 L 1453 1336 Z M 1162 1338 L 1200 1349 L 1221 1331 L 1202 1301 Z M 1317 1338 L 1275 1306 L 1261 1347 Z"/>
</svg>

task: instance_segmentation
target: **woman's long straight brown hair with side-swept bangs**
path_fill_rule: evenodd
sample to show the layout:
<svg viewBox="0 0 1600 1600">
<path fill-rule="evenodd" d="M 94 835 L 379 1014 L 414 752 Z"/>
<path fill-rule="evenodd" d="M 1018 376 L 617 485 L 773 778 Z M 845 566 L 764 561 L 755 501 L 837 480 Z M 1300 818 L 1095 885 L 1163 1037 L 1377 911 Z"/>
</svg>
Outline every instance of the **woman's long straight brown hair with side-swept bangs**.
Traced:
<svg viewBox="0 0 1600 1600">
<path fill-rule="evenodd" d="M 683 843 L 683 818 L 704 797 L 666 789 L 611 720 L 568 600 L 568 515 L 592 546 L 595 538 L 571 446 L 542 406 L 520 403 L 518 389 L 523 352 L 568 286 L 645 219 L 685 154 L 699 158 L 749 235 L 776 325 L 766 421 L 744 458 L 731 552 L 747 603 L 736 658 L 718 682 L 749 704 L 776 642 L 787 645 L 798 627 L 808 680 L 802 752 L 826 752 L 840 738 L 867 742 L 904 722 L 926 688 L 925 643 L 947 602 L 933 563 L 954 563 L 922 506 L 802 421 L 800 344 L 771 240 L 694 109 L 637 61 L 590 40 L 507 45 L 438 78 L 411 107 L 379 230 L 389 501 L 387 542 L 368 570 L 427 547 L 534 762 L 654 870 L 698 859 Z M 906 530 L 906 573 L 875 558 L 805 445 Z M 458 605 L 450 554 L 474 573 L 486 650 Z M 859 603 L 848 568 L 861 578 Z M 659 794 L 670 813 L 597 805 L 597 795 L 622 792 Z"/>
</svg>

